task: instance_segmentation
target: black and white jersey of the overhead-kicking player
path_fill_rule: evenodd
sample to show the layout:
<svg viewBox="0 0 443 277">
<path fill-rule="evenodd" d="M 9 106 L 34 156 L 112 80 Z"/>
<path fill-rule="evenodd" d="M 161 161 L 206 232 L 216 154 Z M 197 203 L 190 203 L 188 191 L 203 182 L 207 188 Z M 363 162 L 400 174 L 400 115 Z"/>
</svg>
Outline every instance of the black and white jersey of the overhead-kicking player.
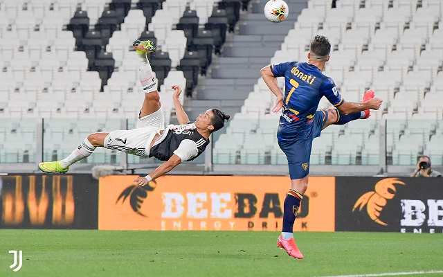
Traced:
<svg viewBox="0 0 443 277">
<path fill-rule="evenodd" d="M 204 152 L 208 144 L 209 139 L 205 139 L 197 132 L 194 123 L 168 125 L 152 145 L 149 157 L 168 161 L 173 154 L 176 154 L 182 162 L 192 161 Z"/>
</svg>

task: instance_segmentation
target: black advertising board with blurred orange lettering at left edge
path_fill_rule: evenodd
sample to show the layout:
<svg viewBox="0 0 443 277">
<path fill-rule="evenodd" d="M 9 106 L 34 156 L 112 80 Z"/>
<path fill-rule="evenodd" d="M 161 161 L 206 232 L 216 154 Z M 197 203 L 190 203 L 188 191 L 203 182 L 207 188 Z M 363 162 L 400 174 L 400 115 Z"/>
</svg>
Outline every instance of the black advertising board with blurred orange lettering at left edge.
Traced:
<svg viewBox="0 0 443 277">
<path fill-rule="evenodd" d="M 97 229 L 98 181 L 91 175 L 0 176 L 0 228 Z"/>
</svg>

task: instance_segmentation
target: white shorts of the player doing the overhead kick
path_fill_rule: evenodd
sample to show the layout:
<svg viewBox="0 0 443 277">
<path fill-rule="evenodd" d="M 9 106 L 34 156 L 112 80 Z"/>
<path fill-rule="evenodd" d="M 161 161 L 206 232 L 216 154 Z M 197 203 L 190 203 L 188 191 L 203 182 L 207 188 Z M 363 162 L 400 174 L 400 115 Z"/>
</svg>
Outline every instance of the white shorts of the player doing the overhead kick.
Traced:
<svg viewBox="0 0 443 277">
<path fill-rule="evenodd" d="M 136 129 L 109 132 L 103 147 L 137 156 L 149 156 L 152 139 L 165 129 L 163 109 L 139 118 L 136 126 Z"/>
</svg>

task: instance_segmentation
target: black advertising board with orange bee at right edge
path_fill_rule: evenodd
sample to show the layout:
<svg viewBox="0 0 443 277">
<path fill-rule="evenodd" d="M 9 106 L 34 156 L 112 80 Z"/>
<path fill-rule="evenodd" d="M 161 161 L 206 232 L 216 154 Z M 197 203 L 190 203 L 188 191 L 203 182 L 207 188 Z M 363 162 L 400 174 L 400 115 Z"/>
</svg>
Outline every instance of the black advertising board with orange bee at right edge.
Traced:
<svg viewBox="0 0 443 277">
<path fill-rule="evenodd" d="M 337 177 L 336 231 L 443 233 L 443 179 Z"/>
</svg>

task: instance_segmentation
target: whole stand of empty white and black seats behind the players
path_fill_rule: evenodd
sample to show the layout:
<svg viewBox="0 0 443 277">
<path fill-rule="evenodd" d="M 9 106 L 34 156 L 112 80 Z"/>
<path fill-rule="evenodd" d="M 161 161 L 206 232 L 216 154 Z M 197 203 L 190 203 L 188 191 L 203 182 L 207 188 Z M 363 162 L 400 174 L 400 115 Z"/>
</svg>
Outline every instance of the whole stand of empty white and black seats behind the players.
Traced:
<svg viewBox="0 0 443 277">
<path fill-rule="evenodd" d="M 421 154 L 443 165 L 441 1 L 337 0 L 333 7 L 330 0 L 288 0 L 289 17 L 278 26 L 262 16 L 264 3 L 1 1 L 0 93 L 6 97 L 0 100 L 0 163 L 35 161 L 36 145 L 29 143 L 37 136 L 35 118 L 134 118 L 141 88 L 131 44 L 141 37 L 159 45 L 150 60 L 168 122 L 174 120 L 168 99 L 174 83 L 186 88 L 188 97 L 181 101 L 190 118 L 208 107 L 233 116 L 215 138 L 213 163 L 284 165 L 275 143 L 278 114 L 270 112 L 274 98 L 259 70 L 274 62 L 305 61 L 309 40 L 322 34 L 333 44 L 325 74 L 345 99 L 359 101 L 372 88 L 384 103 L 369 120 L 325 129 L 314 141 L 311 163 L 377 165 L 383 154 L 379 125 L 388 120 L 388 165 L 414 165 Z M 321 100 L 319 108 L 327 107 Z M 3 125 L 5 118 L 33 123 Z M 53 134 L 45 145 L 60 139 L 55 127 L 45 126 L 51 128 L 46 134 Z M 100 128 L 64 134 L 78 143 L 95 129 Z M 54 150 L 57 146 L 45 150 L 45 159 L 63 155 Z M 115 153 L 97 156 L 93 162 L 119 159 Z"/>
</svg>

